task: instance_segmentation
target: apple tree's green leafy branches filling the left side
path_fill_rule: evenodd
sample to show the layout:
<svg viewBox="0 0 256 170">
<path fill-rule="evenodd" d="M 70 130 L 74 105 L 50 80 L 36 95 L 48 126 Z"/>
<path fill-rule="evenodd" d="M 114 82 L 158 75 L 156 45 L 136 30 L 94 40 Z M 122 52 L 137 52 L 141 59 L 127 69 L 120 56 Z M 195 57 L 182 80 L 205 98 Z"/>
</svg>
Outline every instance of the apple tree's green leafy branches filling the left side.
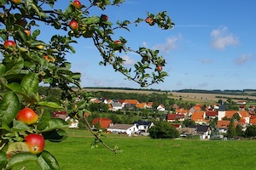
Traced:
<svg viewBox="0 0 256 170">
<path fill-rule="evenodd" d="M 72 44 L 76 38 L 92 41 L 102 56 L 100 65 L 112 65 L 128 80 L 141 87 L 163 82 L 167 76 L 162 67 L 165 59 L 159 50 L 126 47 L 125 37 L 113 39 L 116 30 L 129 30 L 130 25 L 146 22 L 148 26 L 172 29 L 174 24 L 166 12 L 145 13 L 144 19 L 117 21 L 102 20 L 101 14 L 90 15 L 94 8 L 104 11 L 108 6 L 119 6 L 125 0 L 88 0 L 81 5 L 67 3 L 67 8 L 57 8 L 57 0 L 0 0 L 0 168 L 11 169 L 26 161 L 38 161 L 41 169 L 59 169 L 55 157 L 47 150 L 35 155 L 27 152 L 23 139 L 28 133 L 39 133 L 45 140 L 61 142 L 67 138 L 67 122 L 51 117 L 45 108 L 68 110 L 70 116 L 81 117 L 90 112 L 90 94 L 73 91 L 71 86 L 80 88 L 81 74 L 71 71 L 67 54 L 75 53 Z M 77 4 L 80 2 L 77 0 Z M 147 18 L 147 20 L 145 20 Z M 72 26 L 70 26 L 73 21 Z M 49 42 L 40 38 L 41 26 L 58 30 L 60 34 L 50 35 Z M 40 30 L 41 28 L 41 30 Z M 55 31 L 48 31 L 50 32 Z M 4 46 L 4 42 L 15 44 Z M 116 53 L 118 52 L 118 53 Z M 141 59 L 132 68 L 124 65 L 120 54 L 135 53 Z M 160 69 L 158 69 L 160 67 Z M 44 101 L 38 94 L 39 84 L 61 89 L 61 99 L 56 102 Z M 79 96 L 79 101 L 76 100 Z M 70 107 L 73 106 L 73 107 Z M 37 111 L 39 120 L 32 125 L 15 119 L 24 107 Z M 101 141 L 101 140 L 100 140 Z"/>
</svg>

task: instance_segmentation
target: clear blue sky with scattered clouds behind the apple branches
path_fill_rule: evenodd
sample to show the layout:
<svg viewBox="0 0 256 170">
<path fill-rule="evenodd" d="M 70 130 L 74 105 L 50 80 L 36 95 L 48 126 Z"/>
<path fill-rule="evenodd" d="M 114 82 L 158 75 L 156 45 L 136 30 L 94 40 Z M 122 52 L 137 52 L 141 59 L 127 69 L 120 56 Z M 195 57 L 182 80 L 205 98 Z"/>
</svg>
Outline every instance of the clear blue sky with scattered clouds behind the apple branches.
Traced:
<svg viewBox="0 0 256 170">
<path fill-rule="evenodd" d="M 61 1 L 62 2 L 62 1 Z M 87 3 L 81 0 L 81 3 Z M 62 4 L 63 5 L 63 4 Z M 173 30 L 141 24 L 131 31 L 118 31 L 128 40 L 127 46 L 158 48 L 166 59 L 165 82 L 148 88 L 161 90 L 255 89 L 256 79 L 256 1 L 252 0 L 127 0 L 120 7 L 105 11 L 91 8 L 90 14 L 107 14 L 116 20 L 137 20 L 149 13 L 167 11 L 175 23 Z M 42 31 L 43 33 L 44 31 Z M 76 54 L 68 54 L 72 70 L 82 73 L 82 87 L 140 88 L 125 80 L 111 66 L 101 66 L 101 56 L 90 39 L 77 39 Z M 138 58 L 122 54 L 127 63 Z M 129 61 L 129 62 L 128 62 Z"/>
</svg>

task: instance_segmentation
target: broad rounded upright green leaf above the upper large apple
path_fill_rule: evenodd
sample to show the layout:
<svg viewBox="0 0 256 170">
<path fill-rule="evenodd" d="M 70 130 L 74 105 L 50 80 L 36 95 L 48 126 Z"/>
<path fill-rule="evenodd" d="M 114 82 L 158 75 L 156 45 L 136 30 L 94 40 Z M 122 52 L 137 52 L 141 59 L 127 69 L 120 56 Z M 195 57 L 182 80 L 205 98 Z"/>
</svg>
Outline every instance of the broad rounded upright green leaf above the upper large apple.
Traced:
<svg viewBox="0 0 256 170">
<path fill-rule="evenodd" d="M 30 94 L 31 92 L 36 93 L 38 91 L 38 83 L 38 74 L 31 72 L 22 78 L 20 84 L 25 88 L 26 94 Z"/>
</svg>

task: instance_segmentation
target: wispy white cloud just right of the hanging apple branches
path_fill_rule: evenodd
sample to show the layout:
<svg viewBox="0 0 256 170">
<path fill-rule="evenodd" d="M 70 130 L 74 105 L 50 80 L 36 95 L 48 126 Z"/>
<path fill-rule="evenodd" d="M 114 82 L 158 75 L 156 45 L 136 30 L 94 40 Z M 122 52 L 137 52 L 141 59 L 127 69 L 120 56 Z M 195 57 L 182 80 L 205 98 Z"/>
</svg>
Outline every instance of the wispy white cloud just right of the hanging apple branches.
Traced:
<svg viewBox="0 0 256 170">
<path fill-rule="evenodd" d="M 177 41 L 180 40 L 182 37 L 167 37 L 166 43 L 156 44 L 154 45 L 153 49 L 159 49 L 165 53 L 169 53 L 171 49 L 177 48 Z"/>
</svg>

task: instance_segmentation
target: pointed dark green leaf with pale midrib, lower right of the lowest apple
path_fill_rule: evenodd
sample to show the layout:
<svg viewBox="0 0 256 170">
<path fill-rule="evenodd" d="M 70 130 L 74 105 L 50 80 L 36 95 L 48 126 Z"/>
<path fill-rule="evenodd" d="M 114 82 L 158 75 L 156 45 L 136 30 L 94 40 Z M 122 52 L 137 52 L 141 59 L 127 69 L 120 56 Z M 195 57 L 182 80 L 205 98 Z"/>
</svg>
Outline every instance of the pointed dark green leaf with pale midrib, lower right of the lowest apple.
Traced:
<svg viewBox="0 0 256 170">
<path fill-rule="evenodd" d="M 55 156 L 51 155 L 48 151 L 44 150 L 38 156 L 38 165 L 44 170 L 58 170 L 60 169 L 58 161 Z"/>
</svg>

